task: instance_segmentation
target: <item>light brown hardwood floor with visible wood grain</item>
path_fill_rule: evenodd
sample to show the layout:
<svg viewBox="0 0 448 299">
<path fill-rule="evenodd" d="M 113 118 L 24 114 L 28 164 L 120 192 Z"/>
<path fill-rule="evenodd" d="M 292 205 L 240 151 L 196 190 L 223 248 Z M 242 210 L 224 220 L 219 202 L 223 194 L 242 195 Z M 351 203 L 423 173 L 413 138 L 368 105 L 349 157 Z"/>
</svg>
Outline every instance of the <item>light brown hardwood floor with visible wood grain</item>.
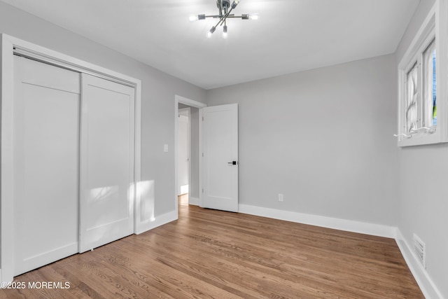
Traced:
<svg viewBox="0 0 448 299">
<path fill-rule="evenodd" d="M 29 288 L 42 281 L 56 288 Z M 0 290 L 0 298 L 424 298 L 393 239 L 185 202 L 178 221 L 15 284 L 26 288 Z"/>
</svg>

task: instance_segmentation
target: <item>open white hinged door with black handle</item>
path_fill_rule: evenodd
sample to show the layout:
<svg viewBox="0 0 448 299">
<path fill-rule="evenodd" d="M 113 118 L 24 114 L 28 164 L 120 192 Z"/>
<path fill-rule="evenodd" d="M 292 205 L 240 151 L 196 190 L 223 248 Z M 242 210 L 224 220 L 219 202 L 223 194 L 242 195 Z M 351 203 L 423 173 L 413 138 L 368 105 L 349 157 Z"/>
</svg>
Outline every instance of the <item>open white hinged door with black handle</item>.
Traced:
<svg viewBox="0 0 448 299">
<path fill-rule="evenodd" d="M 238 105 L 202 111 L 202 206 L 238 211 Z"/>
</svg>

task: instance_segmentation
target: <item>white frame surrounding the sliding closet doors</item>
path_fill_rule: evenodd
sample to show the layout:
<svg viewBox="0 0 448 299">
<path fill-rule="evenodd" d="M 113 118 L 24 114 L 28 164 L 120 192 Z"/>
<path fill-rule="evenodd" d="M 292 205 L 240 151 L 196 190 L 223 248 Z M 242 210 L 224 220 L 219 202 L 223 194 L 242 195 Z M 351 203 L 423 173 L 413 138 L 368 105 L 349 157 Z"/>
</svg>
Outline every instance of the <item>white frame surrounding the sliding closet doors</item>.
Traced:
<svg viewBox="0 0 448 299">
<path fill-rule="evenodd" d="M 13 281 L 13 55 L 19 54 L 72 71 L 90 74 L 128 85 L 135 90 L 134 131 L 134 233 L 139 229 L 141 181 L 141 81 L 116 71 L 37 46 L 7 34 L 0 38 L 0 99 L 1 99 L 1 173 L 0 173 L 0 281 Z"/>
</svg>

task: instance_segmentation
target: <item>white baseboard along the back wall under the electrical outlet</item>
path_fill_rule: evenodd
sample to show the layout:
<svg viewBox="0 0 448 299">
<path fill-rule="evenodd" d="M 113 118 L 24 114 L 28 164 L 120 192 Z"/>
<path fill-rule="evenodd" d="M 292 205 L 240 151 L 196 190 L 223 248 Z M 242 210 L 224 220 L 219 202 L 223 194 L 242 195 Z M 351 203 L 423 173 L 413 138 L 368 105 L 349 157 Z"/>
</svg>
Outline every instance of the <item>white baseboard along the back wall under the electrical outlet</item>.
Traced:
<svg viewBox="0 0 448 299">
<path fill-rule="evenodd" d="M 395 227 L 239 204 L 239 213 L 395 239 Z"/>
</svg>

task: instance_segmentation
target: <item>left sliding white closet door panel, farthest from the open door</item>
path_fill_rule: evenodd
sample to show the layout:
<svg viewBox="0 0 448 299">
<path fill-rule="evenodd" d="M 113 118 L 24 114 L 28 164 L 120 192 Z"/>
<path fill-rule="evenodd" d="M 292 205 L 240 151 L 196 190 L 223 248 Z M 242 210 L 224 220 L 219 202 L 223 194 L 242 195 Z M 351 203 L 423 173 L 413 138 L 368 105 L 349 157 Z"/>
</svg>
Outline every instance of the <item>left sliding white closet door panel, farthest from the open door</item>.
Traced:
<svg viewBox="0 0 448 299">
<path fill-rule="evenodd" d="M 78 252 L 80 75 L 14 57 L 14 275 Z"/>
</svg>

